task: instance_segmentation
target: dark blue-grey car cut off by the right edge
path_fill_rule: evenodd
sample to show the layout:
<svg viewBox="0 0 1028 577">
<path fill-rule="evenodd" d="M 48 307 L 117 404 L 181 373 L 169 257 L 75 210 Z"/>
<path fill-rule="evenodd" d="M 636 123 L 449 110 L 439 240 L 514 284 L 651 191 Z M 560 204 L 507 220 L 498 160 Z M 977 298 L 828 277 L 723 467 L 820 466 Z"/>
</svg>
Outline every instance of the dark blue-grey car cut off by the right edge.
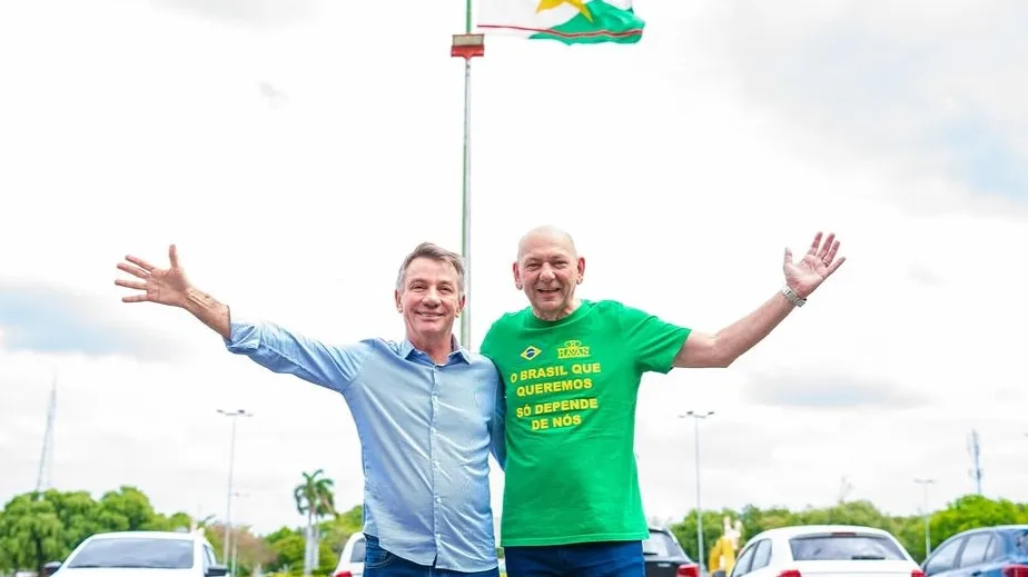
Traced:
<svg viewBox="0 0 1028 577">
<path fill-rule="evenodd" d="M 1028 525 L 968 529 L 921 565 L 926 577 L 1028 577 Z"/>
</svg>

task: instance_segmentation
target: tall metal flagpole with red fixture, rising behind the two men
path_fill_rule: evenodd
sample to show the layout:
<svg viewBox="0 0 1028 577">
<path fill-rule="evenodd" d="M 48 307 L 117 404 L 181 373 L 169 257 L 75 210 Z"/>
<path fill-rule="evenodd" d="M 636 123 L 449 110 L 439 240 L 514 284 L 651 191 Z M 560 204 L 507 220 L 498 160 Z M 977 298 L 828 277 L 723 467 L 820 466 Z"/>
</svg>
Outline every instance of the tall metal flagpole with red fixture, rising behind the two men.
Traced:
<svg viewBox="0 0 1028 577">
<path fill-rule="evenodd" d="M 449 56 L 464 59 L 464 173 L 462 178 L 463 209 L 461 215 L 461 255 L 464 257 L 464 294 L 471 295 L 471 59 L 485 56 L 485 38 L 473 34 L 472 0 L 464 11 L 464 33 L 454 34 Z M 471 347 L 471 307 L 461 315 L 461 345 Z"/>
</svg>

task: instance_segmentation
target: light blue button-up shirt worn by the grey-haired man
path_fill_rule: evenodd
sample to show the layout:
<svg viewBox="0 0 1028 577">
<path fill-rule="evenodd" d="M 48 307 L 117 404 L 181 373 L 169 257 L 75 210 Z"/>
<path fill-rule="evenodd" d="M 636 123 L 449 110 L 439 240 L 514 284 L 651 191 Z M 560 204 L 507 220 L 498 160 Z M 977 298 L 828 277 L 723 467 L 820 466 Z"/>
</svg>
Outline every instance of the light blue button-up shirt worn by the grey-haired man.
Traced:
<svg viewBox="0 0 1028 577">
<path fill-rule="evenodd" d="M 364 530 L 419 565 L 496 567 L 488 456 L 503 466 L 503 388 L 495 366 L 465 349 L 437 365 L 409 340 L 336 347 L 270 322 L 233 318 L 231 352 L 338 391 L 364 465 Z"/>
</svg>

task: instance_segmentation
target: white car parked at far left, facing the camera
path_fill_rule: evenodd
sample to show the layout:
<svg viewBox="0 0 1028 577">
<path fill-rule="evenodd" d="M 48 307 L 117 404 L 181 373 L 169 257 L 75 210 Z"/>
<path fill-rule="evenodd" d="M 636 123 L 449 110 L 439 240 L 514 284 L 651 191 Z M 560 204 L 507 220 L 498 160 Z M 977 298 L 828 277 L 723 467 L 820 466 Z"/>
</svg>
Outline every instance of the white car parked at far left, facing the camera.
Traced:
<svg viewBox="0 0 1028 577">
<path fill-rule="evenodd" d="M 88 537 L 53 577 L 223 577 L 227 573 L 200 534 L 120 531 Z"/>
</svg>

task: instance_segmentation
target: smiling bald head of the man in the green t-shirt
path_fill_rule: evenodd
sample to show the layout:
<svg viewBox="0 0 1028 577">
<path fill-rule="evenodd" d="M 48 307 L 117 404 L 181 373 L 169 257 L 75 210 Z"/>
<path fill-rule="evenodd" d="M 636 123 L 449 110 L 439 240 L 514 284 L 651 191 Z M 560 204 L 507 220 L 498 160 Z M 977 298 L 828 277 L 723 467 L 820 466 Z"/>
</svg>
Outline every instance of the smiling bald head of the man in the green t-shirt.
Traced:
<svg viewBox="0 0 1028 577">
<path fill-rule="evenodd" d="M 585 276 L 585 259 L 574 241 L 561 230 L 543 227 L 522 239 L 514 263 L 514 283 L 541 319 L 556 320 L 579 306 L 575 286 Z"/>
</svg>

